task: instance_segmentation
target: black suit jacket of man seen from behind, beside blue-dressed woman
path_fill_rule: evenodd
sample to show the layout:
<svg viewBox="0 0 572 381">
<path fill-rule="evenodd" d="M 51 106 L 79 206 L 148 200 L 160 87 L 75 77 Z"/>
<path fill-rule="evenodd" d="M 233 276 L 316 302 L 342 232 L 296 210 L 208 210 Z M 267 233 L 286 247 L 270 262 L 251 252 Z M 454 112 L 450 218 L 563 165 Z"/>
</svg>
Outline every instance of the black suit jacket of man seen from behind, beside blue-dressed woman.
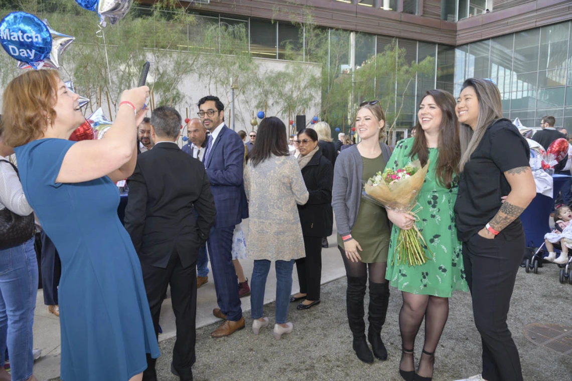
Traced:
<svg viewBox="0 0 572 381">
<path fill-rule="evenodd" d="M 183 267 L 192 265 L 216 220 L 215 200 L 202 163 L 176 144 L 158 143 L 137 156 L 127 183 L 125 229 L 140 260 L 166 268 L 176 250 Z"/>
</svg>

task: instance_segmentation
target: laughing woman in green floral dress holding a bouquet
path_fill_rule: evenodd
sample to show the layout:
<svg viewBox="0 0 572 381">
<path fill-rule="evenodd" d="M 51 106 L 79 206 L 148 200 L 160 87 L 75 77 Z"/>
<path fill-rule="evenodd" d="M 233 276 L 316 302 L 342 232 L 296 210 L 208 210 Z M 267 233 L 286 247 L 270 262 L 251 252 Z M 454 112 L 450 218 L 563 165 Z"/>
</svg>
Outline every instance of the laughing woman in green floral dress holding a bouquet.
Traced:
<svg viewBox="0 0 572 381">
<path fill-rule="evenodd" d="M 453 206 L 457 196 L 456 171 L 460 159 L 458 120 L 455 99 L 443 90 L 430 90 L 419 104 L 416 135 L 395 147 L 387 167 L 403 168 L 419 159 L 429 161 L 429 170 L 414 207 L 419 217 L 387 210 L 394 223 L 391 232 L 386 278 L 402 291 L 403 305 L 399 313 L 402 358 L 399 373 L 411 381 L 430 380 L 433 375 L 434 352 L 449 313 L 448 298 L 452 291 L 468 291 L 464 279 L 461 243 L 457 239 Z M 399 228 L 411 229 L 415 224 L 427 244 L 427 262 L 409 266 L 394 262 Z M 415 371 L 414 344 L 425 318 L 425 342 Z"/>
</svg>

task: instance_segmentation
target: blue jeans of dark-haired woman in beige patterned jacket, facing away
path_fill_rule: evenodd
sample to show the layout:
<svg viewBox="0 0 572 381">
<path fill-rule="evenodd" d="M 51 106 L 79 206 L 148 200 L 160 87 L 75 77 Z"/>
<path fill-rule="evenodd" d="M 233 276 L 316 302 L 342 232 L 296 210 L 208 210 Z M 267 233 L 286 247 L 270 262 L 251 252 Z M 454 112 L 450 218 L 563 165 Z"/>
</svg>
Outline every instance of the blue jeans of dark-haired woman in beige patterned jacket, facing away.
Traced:
<svg viewBox="0 0 572 381">
<path fill-rule="evenodd" d="M 294 260 L 276 261 L 276 324 L 284 324 L 288 320 L 288 306 L 292 291 L 292 269 Z M 255 260 L 251 277 L 251 317 L 263 317 L 264 289 L 270 271 L 270 261 Z"/>
</svg>

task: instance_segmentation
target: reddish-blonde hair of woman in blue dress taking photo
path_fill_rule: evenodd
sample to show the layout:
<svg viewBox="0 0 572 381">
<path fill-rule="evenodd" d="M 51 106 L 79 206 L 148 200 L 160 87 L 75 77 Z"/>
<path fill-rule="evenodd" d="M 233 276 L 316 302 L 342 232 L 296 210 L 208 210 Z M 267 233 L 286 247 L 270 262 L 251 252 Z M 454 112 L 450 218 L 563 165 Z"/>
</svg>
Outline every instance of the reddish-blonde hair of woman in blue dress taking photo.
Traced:
<svg viewBox="0 0 572 381">
<path fill-rule="evenodd" d="M 10 81 L 2 99 L 3 139 L 19 147 L 39 139 L 55 119 L 59 72 L 30 70 Z"/>
</svg>

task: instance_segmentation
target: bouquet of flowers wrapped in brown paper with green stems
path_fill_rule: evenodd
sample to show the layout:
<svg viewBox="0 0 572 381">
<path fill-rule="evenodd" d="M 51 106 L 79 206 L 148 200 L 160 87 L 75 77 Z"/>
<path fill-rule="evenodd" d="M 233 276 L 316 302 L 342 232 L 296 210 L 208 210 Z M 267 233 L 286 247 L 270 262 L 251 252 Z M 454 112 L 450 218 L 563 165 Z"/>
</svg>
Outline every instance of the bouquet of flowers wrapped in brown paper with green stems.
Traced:
<svg viewBox="0 0 572 381">
<path fill-rule="evenodd" d="M 417 203 L 417 196 L 423 187 L 428 169 L 429 162 L 427 161 L 427 164 L 422 168 L 419 160 L 412 161 L 412 163 L 395 171 L 386 168 L 383 173 L 378 172 L 367 181 L 365 185 L 366 194 L 386 208 L 409 213 L 418 220 L 416 213 L 419 212 L 419 209 L 412 209 Z M 423 245 L 427 246 L 415 224 L 409 230 L 400 229 L 394 262 L 397 261 L 398 264 L 410 266 L 424 264 L 427 258 Z"/>
</svg>

